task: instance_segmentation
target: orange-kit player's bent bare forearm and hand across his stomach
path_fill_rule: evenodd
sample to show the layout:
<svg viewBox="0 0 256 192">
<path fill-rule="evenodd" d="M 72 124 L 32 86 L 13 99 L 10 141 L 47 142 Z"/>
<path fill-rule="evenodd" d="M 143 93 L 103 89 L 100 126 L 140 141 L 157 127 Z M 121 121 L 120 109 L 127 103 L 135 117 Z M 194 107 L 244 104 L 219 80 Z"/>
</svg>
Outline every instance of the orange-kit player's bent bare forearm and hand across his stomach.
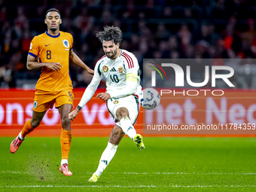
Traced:
<svg viewBox="0 0 256 192">
<path fill-rule="evenodd" d="M 47 67 L 48 69 L 52 69 L 55 72 L 60 71 L 62 65 L 59 62 L 35 62 L 35 57 L 28 55 L 26 61 L 26 68 L 29 70 L 41 69 L 42 67 Z"/>
</svg>

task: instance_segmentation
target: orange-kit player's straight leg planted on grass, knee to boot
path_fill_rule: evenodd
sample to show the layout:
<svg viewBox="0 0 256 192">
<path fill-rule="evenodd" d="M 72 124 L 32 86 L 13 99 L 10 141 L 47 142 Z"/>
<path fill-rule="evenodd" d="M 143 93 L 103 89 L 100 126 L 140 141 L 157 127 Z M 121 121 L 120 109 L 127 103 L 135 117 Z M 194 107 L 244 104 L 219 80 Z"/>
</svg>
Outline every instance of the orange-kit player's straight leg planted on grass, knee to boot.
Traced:
<svg viewBox="0 0 256 192">
<path fill-rule="evenodd" d="M 61 122 L 62 122 L 62 132 L 60 136 L 60 146 L 61 146 L 61 152 L 62 152 L 62 160 L 59 167 L 59 172 L 62 172 L 63 175 L 71 176 L 72 172 L 69 170 L 69 151 L 72 141 L 72 132 L 71 132 L 71 123 L 69 120 L 69 113 L 72 110 L 72 105 L 70 104 L 64 104 L 60 106 L 59 113 L 61 116 Z"/>
</svg>

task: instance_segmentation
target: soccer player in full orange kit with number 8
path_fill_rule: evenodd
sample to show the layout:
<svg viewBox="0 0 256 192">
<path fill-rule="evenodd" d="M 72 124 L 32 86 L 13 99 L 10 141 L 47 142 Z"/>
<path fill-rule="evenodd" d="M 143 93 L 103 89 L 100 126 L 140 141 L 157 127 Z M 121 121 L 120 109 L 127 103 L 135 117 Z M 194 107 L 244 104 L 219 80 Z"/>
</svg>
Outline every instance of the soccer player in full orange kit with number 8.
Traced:
<svg viewBox="0 0 256 192">
<path fill-rule="evenodd" d="M 68 32 L 59 31 L 62 20 L 57 9 L 51 8 L 46 12 L 44 23 L 47 25 L 47 31 L 32 39 L 26 63 L 29 70 L 41 69 L 40 78 L 35 86 L 32 119 L 26 121 L 23 130 L 11 142 L 10 151 L 13 154 L 17 151 L 26 135 L 39 126 L 46 111 L 53 108 L 53 104 L 55 104 L 62 121 L 60 136 L 62 160 L 59 172 L 64 175 L 72 175 L 68 166 L 72 141 L 69 113 L 72 111 L 73 105 L 73 86 L 69 75 L 69 59 L 75 65 L 85 69 L 90 75 L 93 75 L 93 70 L 85 65 L 73 52 L 72 35 Z M 38 62 L 36 62 L 36 59 L 38 59 Z"/>
</svg>

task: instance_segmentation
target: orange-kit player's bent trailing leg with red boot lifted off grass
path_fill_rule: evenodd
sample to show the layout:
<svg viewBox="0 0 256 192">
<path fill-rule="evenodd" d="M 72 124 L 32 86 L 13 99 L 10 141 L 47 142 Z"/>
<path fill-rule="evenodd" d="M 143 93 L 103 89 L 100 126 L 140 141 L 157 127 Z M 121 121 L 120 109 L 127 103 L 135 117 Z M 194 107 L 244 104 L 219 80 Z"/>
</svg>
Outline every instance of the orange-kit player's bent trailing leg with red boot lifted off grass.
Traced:
<svg viewBox="0 0 256 192">
<path fill-rule="evenodd" d="M 26 123 L 23 126 L 23 130 L 14 139 L 14 141 L 11 142 L 10 151 L 12 154 L 14 154 L 18 150 L 18 148 L 20 148 L 20 145 L 22 144 L 26 135 L 31 133 L 33 130 L 35 130 L 36 127 L 39 126 L 39 124 L 41 123 L 41 120 L 44 117 L 45 112 L 46 111 L 44 111 L 44 112 L 33 111 L 32 119 L 26 121 Z"/>
</svg>

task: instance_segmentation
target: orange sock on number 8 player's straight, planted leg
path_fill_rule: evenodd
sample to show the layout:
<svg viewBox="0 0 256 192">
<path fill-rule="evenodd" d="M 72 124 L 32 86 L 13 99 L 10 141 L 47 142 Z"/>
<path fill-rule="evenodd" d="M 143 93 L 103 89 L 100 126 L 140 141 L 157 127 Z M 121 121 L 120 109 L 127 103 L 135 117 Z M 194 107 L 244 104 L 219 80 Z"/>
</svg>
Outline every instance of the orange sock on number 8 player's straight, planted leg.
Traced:
<svg viewBox="0 0 256 192">
<path fill-rule="evenodd" d="M 61 136 L 60 136 L 62 159 L 67 160 L 69 158 L 71 140 L 72 140 L 72 132 L 62 129 Z"/>
</svg>

